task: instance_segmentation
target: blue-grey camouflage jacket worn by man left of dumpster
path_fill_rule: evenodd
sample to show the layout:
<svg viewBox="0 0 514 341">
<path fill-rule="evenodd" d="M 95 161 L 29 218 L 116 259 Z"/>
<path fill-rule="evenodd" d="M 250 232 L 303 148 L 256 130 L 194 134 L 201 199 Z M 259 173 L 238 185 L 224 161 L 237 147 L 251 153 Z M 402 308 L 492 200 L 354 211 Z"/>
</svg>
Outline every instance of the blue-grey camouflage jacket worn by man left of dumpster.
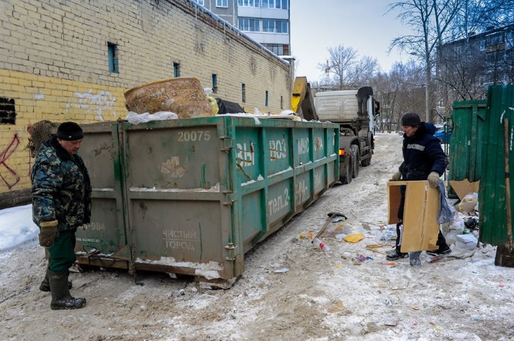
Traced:
<svg viewBox="0 0 514 341">
<path fill-rule="evenodd" d="M 30 174 L 32 220 L 58 221 L 58 230 L 76 230 L 91 219 L 91 181 L 82 158 L 51 137 L 37 153 Z"/>
</svg>

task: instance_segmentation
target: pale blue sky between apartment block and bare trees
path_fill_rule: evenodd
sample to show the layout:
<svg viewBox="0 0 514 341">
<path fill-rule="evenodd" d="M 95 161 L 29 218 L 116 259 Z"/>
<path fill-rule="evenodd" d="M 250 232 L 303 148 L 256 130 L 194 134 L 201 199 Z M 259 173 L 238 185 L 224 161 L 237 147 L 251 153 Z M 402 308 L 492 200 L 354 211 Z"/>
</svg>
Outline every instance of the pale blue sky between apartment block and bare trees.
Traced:
<svg viewBox="0 0 514 341">
<path fill-rule="evenodd" d="M 318 63 L 326 63 L 327 49 L 343 44 L 357 50 L 359 58 L 377 58 L 382 71 L 410 56 L 396 49 L 387 53 L 391 41 L 409 32 L 396 13 L 386 13 L 389 0 L 292 0 L 291 52 L 296 76 L 320 80 Z"/>
</svg>

